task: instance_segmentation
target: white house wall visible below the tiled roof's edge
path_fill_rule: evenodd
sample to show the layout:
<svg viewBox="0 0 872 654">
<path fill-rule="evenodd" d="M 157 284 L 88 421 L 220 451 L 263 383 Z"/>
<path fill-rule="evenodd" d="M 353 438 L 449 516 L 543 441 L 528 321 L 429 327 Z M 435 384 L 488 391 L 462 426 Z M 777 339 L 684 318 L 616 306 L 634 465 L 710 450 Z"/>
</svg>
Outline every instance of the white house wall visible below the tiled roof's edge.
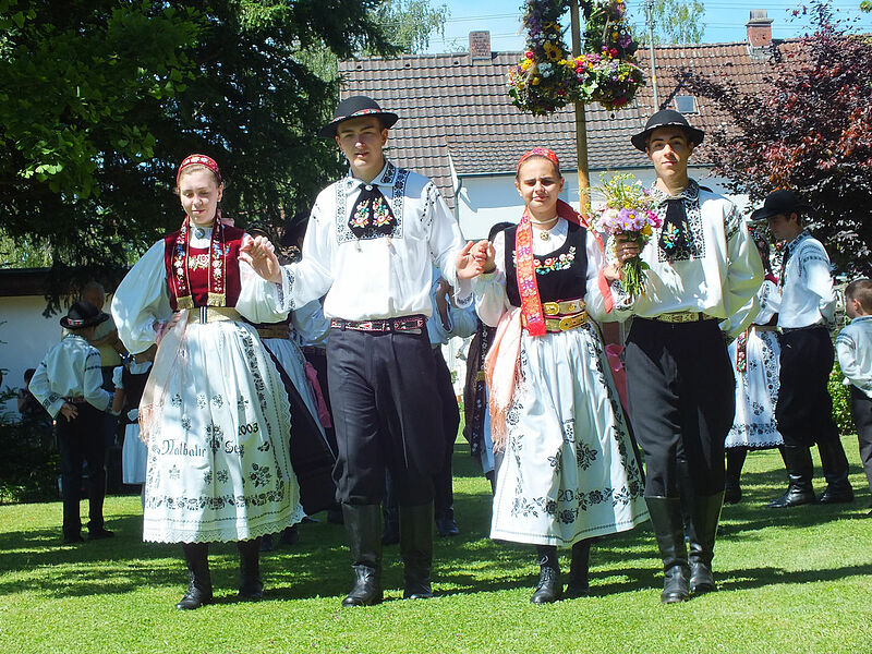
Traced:
<svg viewBox="0 0 872 654">
<path fill-rule="evenodd" d="M 590 178 L 593 186 L 601 184 L 602 170 L 591 171 Z M 638 168 L 621 170 L 630 172 L 644 185 L 654 182 L 654 168 Z M 579 206 L 579 180 L 576 171 L 564 173 L 566 183 L 560 198 L 578 208 Z M 691 177 L 697 179 L 704 186 L 708 186 L 716 193 L 723 193 L 730 197 L 739 209 L 749 213 L 747 195 L 731 195 L 726 192 L 723 178 L 714 178 L 708 174 L 706 168 L 692 168 Z M 523 211 L 523 202 L 514 189 L 514 174 L 487 174 L 487 175 L 459 175 L 460 190 L 456 193 L 456 215 L 460 221 L 460 229 L 467 239 L 486 239 L 491 226 L 508 220 L 518 222 Z M 593 201 L 596 202 L 597 195 L 594 193 Z"/>
</svg>

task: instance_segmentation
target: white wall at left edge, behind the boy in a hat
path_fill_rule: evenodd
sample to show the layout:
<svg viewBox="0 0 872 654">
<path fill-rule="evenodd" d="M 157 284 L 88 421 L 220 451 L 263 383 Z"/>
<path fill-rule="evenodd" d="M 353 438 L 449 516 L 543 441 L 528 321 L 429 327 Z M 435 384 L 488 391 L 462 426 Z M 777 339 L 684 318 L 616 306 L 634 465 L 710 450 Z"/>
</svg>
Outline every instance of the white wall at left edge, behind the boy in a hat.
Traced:
<svg viewBox="0 0 872 654">
<path fill-rule="evenodd" d="M 35 368 L 48 349 L 57 343 L 63 329 L 58 320 L 61 314 L 46 318 L 43 295 L 21 298 L 0 296 L 0 368 L 3 372 L 3 389 L 24 386 L 24 371 Z M 12 411 L 17 417 L 17 405 L 13 399 L 0 407 L 0 411 Z"/>
</svg>

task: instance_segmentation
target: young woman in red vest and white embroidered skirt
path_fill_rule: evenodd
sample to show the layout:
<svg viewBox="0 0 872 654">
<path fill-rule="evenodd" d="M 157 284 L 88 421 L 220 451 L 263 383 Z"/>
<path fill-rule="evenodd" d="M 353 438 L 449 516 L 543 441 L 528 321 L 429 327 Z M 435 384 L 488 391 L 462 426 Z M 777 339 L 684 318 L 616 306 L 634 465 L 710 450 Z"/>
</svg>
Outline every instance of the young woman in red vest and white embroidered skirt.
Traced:
<svg viewBox="0 0 872 654">
<path fill-rule="evenodd" d="M 237 542 L 239 596 L 259 600 L 258 536 L 302 512 L 288 396 L 243 320 L 283 319 L 278 287 L 238 258 L 250 237 L 221 220 L 218 165 L 192 155 L 175 183 L 182 227 L 130 270 L 112 315 L 130 352 L 159 341 L 140 405 L 148 445 L 143 540 L 182 544 L 191 583 L 177 607 L 191 609 L 213 598 L 209 543 Z"/>
</svg>

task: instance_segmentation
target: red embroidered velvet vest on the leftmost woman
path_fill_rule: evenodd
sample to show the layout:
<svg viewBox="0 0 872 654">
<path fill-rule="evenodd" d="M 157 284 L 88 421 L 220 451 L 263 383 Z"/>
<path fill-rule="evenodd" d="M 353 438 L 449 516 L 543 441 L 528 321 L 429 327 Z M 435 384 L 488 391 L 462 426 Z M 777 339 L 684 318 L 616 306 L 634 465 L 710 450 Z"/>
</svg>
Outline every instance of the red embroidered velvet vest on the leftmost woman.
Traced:
<svg viewBox="0 0 872 654">
<path fill-rule="evenodd" d="M 194 306 L 235 306 L 239 293 L 242 289 L 239 277 L 239 249 L 242 245 L 242 238 L 245 231 L 225 227 L 225 252 L 223 262 L 226 266 L 225 301 L 218 303 L 215 298 L 209 298 L 209 250 L 208 247 L 190 247 L 187 256 L 187 279 L 191 283 L 191 296 Z M 172 232 L 164 239 L 164 265 L 167 269 L 167 279 L 172 279 L 175 275 L 173 257 L 175 256 L 175 241 L 179 232 Z M 173 284 L 169 284 L 170 306 L 172 311 L 179 311 L 179 302 L 173 292 Z M 183 308 L 183 307 L 182 307 Z"/>
</svg>

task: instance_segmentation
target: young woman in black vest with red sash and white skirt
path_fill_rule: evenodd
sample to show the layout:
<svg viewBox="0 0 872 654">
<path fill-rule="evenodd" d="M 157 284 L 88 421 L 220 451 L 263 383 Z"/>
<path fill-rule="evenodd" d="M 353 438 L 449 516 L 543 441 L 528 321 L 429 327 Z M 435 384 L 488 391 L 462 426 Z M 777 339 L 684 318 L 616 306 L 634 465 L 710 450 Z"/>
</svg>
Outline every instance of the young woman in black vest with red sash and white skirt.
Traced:
<svg viewBox="0 0 872 654">
<path fill-rule="evenodd" d="M 592 538 L 632 529 L 647 511 L 591 319 L 606 313 L 602 245 L 558 199 L 564 179 L 552 150 L 521 157 L 516 186 L 526 209 L 487 246 L 474 290 L 482 320 L 498 325 L 485 364 L 494 448 L 502 450 L 491 537 L 536 545 L 531 602 L 542 604 L 562 592 L 557 545 L 572 547 L 565 596 L 586 595 Z"/>
</svg>

